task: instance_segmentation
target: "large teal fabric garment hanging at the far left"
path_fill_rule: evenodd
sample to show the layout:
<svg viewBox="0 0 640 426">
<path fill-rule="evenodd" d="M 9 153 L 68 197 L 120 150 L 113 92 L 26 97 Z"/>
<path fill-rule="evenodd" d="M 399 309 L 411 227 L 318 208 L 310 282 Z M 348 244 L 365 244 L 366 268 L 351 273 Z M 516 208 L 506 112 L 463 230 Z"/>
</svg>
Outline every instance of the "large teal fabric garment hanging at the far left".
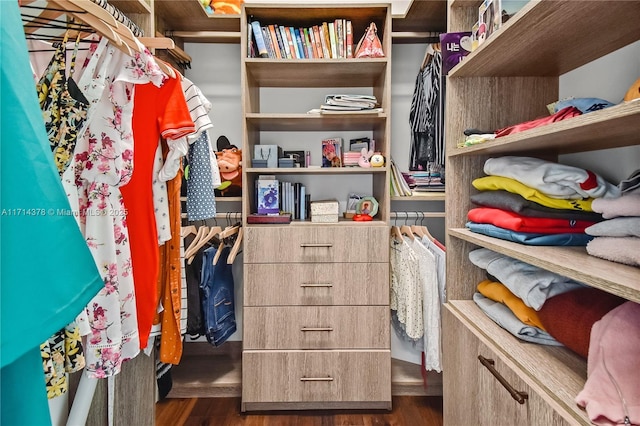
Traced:
<svg viewBox="0 0 640 426">
<path fill-rule="evenodd" d="M 2 425 L 42 424 L 34 356 L 103 287 L 55 169 L 18 2 L 0 1 L 0 382 Z M 13 394 L 25 403 L 18 406 Z M 9 408 L 10 407 L 10 408 Z M 24 407 L 23 410 L 20 407 Z"/>
</svg>

